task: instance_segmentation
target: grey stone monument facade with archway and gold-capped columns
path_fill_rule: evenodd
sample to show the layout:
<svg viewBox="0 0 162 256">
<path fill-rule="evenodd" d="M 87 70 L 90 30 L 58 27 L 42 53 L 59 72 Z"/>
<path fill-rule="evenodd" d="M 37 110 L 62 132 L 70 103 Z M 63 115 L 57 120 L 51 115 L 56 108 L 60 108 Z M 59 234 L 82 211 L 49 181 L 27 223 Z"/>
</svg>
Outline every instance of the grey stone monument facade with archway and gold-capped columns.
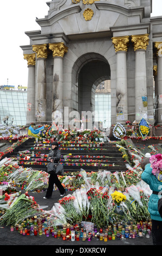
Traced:
<svg viewBox="0 0 162 256">
<path fill-rule="evenodd" d="M 111 124 L 142 117 L 161 124 L 162 17 L 151 17 L 152 0 L 47 5 L 48 15 L 36 19 L 41 30 L 26 32 L 30 43 L 21 46 L 28 63 L 27 124 L 51 122 L 65 108 L 93 111 L 95 88 L 105 80 L 111 80 Z"/>
</svg>

